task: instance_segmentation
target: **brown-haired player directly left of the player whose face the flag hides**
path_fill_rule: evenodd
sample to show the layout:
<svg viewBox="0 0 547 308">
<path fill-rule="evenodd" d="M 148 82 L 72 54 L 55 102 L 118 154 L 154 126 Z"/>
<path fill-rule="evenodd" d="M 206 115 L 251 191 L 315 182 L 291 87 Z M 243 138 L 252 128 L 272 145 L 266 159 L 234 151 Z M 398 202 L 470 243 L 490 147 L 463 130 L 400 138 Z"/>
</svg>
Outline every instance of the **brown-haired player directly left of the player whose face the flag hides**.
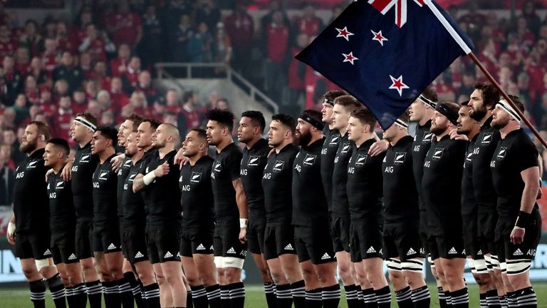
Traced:
<svg viewBox="0 0 547 308">
<path fill-rule="evenodd" d="M 382 272 L 381 197 L 385 153 L 368 154 L 375 143 L 373 132 L 377 124 L 368 109 L 355 109 L 348 123 L 348 140 L 355 143 L 347 170 L 351 261 L 363 289 L 365 307 L 390 307 L 390 287 Z"/>
</svg>

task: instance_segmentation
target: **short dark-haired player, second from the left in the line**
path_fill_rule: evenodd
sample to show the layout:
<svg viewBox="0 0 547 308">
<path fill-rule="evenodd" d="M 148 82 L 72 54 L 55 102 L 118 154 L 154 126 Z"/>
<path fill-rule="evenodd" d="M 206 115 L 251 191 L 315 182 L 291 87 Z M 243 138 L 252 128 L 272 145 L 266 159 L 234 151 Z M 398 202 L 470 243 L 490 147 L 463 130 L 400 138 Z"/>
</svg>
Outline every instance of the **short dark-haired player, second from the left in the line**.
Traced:
<svg viewBox="0 0 547 308">
<path fill-rule="evenodd" d="M 48 175 L 50 250 L 66 286 L 68 307 L 85 308 L 88 297 L 85 294 L 80 260 L 75 255 L 76 216 L 71 183 L 61 176 L 70 151 L 66 140 L 52 138 L 48 140 L 43 154 L 44 165 L 53 169 L 53 173 Z"/>
</svg>

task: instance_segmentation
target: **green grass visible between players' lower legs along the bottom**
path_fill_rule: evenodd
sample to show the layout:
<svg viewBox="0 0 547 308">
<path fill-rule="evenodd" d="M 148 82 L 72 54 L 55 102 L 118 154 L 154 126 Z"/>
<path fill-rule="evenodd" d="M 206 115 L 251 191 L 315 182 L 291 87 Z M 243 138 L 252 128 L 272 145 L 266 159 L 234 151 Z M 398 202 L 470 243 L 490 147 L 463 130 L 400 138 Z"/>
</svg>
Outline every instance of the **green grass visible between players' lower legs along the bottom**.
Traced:
<svg viewBox="0 0 547 308">
<path fill-rule="evenodd" d="M 534 289 L 538 297 L 538 307 L 547 308 L 547 282 L 534 283 Z M 429 290 L 432 291 L 431 307 L 439 307 L 437 302 L 437 288 L 434 285 L 429 285 Z M 479 307 L 479 291 L 475 284 L 469 287 L 469 307 Z M 31 301 L 28 298 L 27 289 L 0 289 L 0 307 L 8 308 L 23 308 L 32 307 Z M 54 307 L 49 294 L 46 296 L 46 307 Z M 247 286 L 247 298 L 245 307 L 262 308 L 266 307 L 264 299 L 264 291 L 261 286 Z M 345 308 L 345 300 L 340 301 L 340 308 Z M 397 307 L 395 296 L 392 299 L 391 307 Z"/>
</svg>

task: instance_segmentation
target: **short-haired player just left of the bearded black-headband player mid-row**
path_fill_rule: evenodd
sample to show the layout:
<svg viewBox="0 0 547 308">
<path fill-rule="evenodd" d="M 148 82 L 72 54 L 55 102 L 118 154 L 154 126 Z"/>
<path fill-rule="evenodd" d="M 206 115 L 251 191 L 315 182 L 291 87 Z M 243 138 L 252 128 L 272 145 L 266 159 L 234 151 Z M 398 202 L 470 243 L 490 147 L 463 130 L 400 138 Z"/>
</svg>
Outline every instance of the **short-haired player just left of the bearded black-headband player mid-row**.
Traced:
<svg viewBox="0 0 547 308">
<path fill-rule="evenodd" d="M 266 209 L 264 257 L 276 284 L 279 308 L 290 308 L 293 302 L 296 308 L 306 307 L 305 284 L 298 266 L 291 225 L 292 166 L 298 153 L 298 147 L 293 145 L 295 128 L 296 120 L 291 116 L 276 114 L 271 117 L 268 145 L 274 152 L 268 158 L 262 176 Z"/>
</svg>

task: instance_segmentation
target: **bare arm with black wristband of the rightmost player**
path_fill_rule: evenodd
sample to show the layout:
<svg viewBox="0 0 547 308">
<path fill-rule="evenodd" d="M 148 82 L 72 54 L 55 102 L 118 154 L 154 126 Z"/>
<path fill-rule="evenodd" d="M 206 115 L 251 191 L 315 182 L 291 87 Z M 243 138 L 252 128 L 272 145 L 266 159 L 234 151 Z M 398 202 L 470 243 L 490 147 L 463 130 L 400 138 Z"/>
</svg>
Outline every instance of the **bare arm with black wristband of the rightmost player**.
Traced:
<svg viewBox="0 0 547 308">
<path fill-rule="evenodd" d="M 524 227 L 536 204 L 538 195 L 539 167 L 534 166 L 521 171 L 521 178 L 524 182 L 524 190 L 521 198 L 519 217 L 516 218 L 515 227 L 511 232 L 511 242 L 518 245 L 524 240 Z"/>
</svg>

